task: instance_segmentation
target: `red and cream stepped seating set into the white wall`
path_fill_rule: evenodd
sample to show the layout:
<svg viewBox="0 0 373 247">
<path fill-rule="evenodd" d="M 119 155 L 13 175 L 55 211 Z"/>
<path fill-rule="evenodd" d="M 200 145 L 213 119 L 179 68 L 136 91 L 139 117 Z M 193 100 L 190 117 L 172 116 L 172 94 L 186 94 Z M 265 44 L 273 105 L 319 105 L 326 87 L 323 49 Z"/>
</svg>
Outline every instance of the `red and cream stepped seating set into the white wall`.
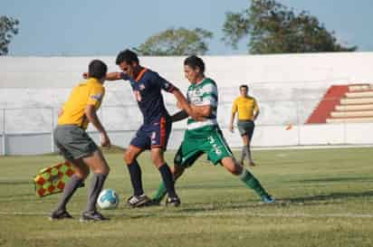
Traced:
<svg viewBox="0 0 373 247">
<path fill-rule="evenodd" d="M 307 124 L 373 122 L 373 85 L 334 85 L 313 110 Z"/>
</svg>

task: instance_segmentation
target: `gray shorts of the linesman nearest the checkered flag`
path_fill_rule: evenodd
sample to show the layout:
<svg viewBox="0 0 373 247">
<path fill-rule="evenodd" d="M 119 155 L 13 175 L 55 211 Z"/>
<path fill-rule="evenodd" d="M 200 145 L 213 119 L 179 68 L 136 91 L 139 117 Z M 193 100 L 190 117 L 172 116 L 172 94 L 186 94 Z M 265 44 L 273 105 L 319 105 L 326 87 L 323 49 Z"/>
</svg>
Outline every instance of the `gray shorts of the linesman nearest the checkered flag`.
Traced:
<svg viewBox="0 0 373 247">
<path fill-rule="evenodd" d="M 58 125 L 53 134 L 54 144 L 69 161 L 88 157 L 99 148 L 84 129 L 75 125 Z"/>
</svg>

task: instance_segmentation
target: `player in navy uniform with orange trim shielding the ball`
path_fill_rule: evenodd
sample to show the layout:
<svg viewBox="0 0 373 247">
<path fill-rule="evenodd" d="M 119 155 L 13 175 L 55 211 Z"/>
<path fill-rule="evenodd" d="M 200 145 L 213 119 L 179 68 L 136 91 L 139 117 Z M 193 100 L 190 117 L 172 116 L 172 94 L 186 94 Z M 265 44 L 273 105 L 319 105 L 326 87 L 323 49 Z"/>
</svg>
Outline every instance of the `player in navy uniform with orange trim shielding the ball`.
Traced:
<svg viewBox="0 0 373 247">
<path fill-rule="evenodd" d="M 171 131 L 172 121 L 165 107 L 161 90 L 174 94 L 181 107 L 194 117 L 194 113 L 184 95 L 173 84 L 139 65 L 139 58 L 135 52 L 126 50 L 120 52 L 116 60 L 123 72 L 108 73 L 106 79 L 129 81 L 139 109 L 144 118 L 136 136 L 130 141 L 124 160 L 129 169 L 129 176 L 134 194 L 129 197 L 128 204 L 141 206 L 148 204 L 150 199 L 144 194 L 141 180 L 141 169 L 137 157 L 150 149 L 153 164 L 158 168 L 167 190 L 167 203 L 177 206 L 180 200 L 175 192 L 174 180 L 169 166 L 164 158 L 167 140 Z"/>
</svg>

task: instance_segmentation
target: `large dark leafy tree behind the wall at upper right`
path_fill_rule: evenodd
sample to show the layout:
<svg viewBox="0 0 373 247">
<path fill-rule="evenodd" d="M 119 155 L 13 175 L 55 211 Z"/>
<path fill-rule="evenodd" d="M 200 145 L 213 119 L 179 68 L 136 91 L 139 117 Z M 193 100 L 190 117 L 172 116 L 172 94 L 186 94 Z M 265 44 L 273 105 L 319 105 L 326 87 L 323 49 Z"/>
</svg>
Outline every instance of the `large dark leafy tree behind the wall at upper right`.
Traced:
<svg viewBox="0 0 373 247">
<path fill-rule="evenodd" d="M 354 52 L 357 46 L 344 47 L 337 43 L 334 32 L 306 11 L 295 14 L 293 9 L 275 0 L 252 0 L 248 9 L 240 13 L 226 13 L 223 26 L 227 45 L 250 36 L 250 53 L 285 52 Z"/>
</svg>

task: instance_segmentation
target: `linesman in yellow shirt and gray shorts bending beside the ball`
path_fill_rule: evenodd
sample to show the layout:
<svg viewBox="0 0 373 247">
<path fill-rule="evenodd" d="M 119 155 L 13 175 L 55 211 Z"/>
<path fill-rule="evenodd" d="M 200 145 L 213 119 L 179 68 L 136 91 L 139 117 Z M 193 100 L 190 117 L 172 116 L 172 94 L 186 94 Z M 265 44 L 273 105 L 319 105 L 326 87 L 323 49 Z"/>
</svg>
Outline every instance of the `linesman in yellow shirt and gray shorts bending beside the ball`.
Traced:
<svg viewBox="0 0 373 247">
<path fill-rule="evenodd" d="M 107 70 L 107 65 L 100 60 L 90 62 L 88 80 L 73 88 L 69 100 L 63 104 L 58 114 L 58 125 L 54 128 L 54 143 L 63 157 L 72 163 L 75 173 L 63 188 L 57 208 L 50 216 L 51 220 L 72 218 L 66 210 L 66 204 L 89 175 L 90 168 L 93 172 L 91 188 L 81 221 L 107 220 L 97 211 L 96 201 L 110 168 L 100 149 L 85 131 L 91 122 L 101 133 L 102 147 L 110 147 L 110 138 L 96 115 L 105 94 L 103 83 Z"/>
</svg>

